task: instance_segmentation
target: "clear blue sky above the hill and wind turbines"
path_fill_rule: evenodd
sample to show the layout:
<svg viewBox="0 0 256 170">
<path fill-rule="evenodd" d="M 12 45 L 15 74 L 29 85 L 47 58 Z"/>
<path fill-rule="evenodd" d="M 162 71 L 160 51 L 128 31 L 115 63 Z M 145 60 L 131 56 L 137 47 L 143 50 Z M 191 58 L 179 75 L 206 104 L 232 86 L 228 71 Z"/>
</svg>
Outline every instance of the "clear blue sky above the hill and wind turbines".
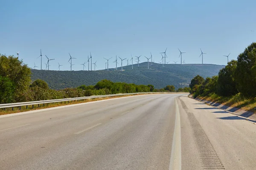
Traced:
<svg viewBox="0 0 256 170">
<path fill-rule="evenodd" d="M 69 70 L 70 53 L 77 58 L 73 70 L 81 70 L 90 51 L 97 69 L 105 69 L 102 57 L 130 59 L 152 52 L 158 62 L 166 47 L 167 61 L 180 61 L 180 48 L 186 63 L 201 63 L 202 48 L 204 63 L 225 65 L 222 55 L 236 59 L 256 41 L 255 7 L 255 0 L 2 0 L 0 53 L 20 51 L 33 67 L 34 62 L 40 66 L 41 48 L 55 58 L 51 70 L 58 62 Z"/>
</svg>

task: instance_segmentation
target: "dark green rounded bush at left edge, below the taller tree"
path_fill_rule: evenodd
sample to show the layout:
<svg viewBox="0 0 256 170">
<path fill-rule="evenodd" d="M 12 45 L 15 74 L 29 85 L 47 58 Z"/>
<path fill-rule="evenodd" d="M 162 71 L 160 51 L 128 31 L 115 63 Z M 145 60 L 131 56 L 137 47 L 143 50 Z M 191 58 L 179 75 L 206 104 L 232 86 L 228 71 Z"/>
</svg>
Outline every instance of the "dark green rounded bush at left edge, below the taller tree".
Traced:
<svg viewBox="0 0 256 170">
<path fill-rule="evenodd" d="M 0 76 L 0 103 L 11 103 L 14 99 L 14 83 L 8 77 Z"/>
</svg>

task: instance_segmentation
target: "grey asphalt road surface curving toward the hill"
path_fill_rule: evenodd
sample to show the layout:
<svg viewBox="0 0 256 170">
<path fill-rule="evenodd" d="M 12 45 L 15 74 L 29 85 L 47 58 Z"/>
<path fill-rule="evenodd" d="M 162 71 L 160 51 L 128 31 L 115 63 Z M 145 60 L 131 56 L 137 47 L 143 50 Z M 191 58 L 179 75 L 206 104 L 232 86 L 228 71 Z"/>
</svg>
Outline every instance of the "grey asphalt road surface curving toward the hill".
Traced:
<svg viewBox="0 0 256 170">
<path fill-rule="evenodd" d="M 255 170 L 256 125 L 187 94 L 0 116 L 0 170 Z"/>
</svg>

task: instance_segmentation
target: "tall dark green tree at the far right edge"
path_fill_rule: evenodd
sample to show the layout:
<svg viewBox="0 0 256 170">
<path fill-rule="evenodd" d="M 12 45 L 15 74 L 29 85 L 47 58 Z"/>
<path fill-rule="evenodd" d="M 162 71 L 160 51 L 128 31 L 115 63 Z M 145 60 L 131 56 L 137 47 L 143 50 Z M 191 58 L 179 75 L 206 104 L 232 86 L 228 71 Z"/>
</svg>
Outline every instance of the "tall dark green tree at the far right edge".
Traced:
<svg viewBox="0 0 256 170">
<path fill-rule="evenodd" d="M 256 42 L 245 48 L 237 58 L 236 88 L 244 96 L 256 96 Z"/>
</svg>

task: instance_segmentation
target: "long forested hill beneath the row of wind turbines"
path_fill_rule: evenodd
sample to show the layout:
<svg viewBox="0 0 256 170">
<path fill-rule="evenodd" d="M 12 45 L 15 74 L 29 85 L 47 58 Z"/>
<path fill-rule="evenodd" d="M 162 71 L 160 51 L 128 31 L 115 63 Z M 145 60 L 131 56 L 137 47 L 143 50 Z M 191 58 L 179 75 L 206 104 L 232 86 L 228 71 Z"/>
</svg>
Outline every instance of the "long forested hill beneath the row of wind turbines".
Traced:
<svg viewBox="0 0 256 170">
<path fill-rule="evenodd" d="M 140 63 L 124 66 L 123 70 L 118 71 L 111 68 L 109 71 L 47 71 L 32 69 L 32 81 L 42 79 L 46 81 L 49 88 L 63 89 L 74 88 L 79 85 L 95 85 L 102 79 L 109 79 L 113 82 L 135 83 L 137 85 L 152 84 L 155 88 L 164 88 L 166 85 L 174 85 L 175 88 L 188 86 L 191 79 L 200 74 L 202 77 L 212 77 L 218 75 L 218 71 L 224 68 L 224 65 L 213 64 L 162 64 L 153 63 L 150 69 L 147 69 L 148 63 Z"/>
</svg>

